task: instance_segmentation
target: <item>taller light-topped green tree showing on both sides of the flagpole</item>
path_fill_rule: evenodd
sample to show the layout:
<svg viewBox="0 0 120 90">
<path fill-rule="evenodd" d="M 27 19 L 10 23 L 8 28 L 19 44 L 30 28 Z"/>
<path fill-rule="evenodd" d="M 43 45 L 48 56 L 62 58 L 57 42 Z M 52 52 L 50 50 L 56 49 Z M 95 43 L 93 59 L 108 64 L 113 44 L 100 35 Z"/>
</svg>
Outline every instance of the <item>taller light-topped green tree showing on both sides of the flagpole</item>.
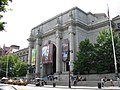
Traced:
<svg viewBox="0 0 120 90">
<path fill-rule="evenodd" d="M 113 35 L 114 35 L 117 63 L 119 65 L 120 38 L 115 33 Z M 100 32 L 99 36 L 97 37 L 97 43 L 95 44 L 95 48 L 97 51 L 96 52 L 97 63 L 95 64 L 95 65 L 97 65 L 97 67 L 96 67 L 97 72 L 99 71 L 99 72 L 103 72 L 103 73 L 105 73 L 105 72 L 113 73 L 115 71 L 114 70 L 114 56 L 113 56 L 111 33 L 109 30 L 104 30 L 104 31 Z"/>
</svg>

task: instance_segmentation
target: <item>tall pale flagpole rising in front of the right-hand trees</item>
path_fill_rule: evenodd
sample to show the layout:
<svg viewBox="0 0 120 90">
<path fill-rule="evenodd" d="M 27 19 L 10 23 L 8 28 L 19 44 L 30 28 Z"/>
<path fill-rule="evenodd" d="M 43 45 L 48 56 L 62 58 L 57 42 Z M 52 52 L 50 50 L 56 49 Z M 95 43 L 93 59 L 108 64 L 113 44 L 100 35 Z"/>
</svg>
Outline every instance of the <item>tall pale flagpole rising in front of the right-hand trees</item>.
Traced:
<svg viewBox="0 0 120 90">
<path fill-rule="evenodd" d="M 109 21 L 109 29 L 110 29 L 110 32 L 111 32 L 111 38 L 112 38 L 112 47 L 113 47 L 114 65 L 115 65 L 115 75 L 116 75 L 116 77 L 118 77 L 117 61 L 116 61 L 116 53 L 115 53 L 115 44 L 114 44 L 112 24 L 111 24 L 110 15 L 109 15 L 109 7 L 108 7 L 108 21 Z"/>
</svg>

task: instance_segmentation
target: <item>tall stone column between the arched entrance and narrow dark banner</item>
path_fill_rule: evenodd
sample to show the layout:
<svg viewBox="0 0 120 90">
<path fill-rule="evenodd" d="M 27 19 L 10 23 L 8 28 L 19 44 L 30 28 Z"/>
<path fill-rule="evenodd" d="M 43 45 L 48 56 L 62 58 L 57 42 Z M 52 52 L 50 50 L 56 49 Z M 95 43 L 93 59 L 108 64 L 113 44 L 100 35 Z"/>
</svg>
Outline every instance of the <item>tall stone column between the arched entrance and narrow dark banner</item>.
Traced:
<svg viewBox="0 0 120 90">
<path fill-rule="evenodd" d="M 60 24 L 59 18 L 57 19 L 57 25 L 56 25 L 56 73 L 60 74 L 61 68 L 62 68 L 62 32 L 61 32 L 62 26 Z"/>
</svg>

